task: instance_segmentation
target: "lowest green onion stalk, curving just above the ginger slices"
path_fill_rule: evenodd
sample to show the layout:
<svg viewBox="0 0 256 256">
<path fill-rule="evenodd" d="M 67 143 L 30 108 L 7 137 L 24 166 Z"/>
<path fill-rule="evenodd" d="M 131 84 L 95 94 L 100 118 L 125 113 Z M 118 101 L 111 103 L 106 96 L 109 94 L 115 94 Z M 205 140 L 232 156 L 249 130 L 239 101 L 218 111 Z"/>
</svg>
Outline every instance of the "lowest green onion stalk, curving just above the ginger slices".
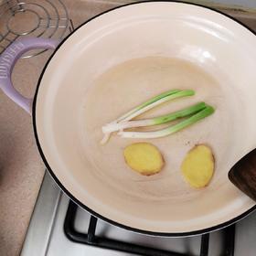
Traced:
<svg viewBox="0 0 256 256">
<path fill-rule="evenodd" d="M 154 132 L 119 132 L 118 135 L 122 136 L 123 138 L 140 138 L 140 139 L 149 139 L 149 138 L 160 138 L 164 137 L 173 133 L 176 133 L 187 126 L 197 123 L 199 120 L 206 118 L 208 115 L 214 112 L 214 108 L 208 106 L 200 112 L 192 115 L 191 117 L 187 118 L 186 120 L 176 123 L 175 125 L 169 126 L 165 129 L 154 131 Z"/>
</svg>

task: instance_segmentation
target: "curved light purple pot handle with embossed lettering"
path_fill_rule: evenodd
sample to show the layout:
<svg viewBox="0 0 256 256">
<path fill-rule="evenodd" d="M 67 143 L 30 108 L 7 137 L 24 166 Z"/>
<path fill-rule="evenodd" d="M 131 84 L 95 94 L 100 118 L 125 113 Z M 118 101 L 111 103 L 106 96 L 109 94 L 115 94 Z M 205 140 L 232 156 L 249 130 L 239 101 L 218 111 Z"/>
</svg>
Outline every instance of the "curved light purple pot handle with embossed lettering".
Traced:
<svg viewBox="0 0 256 256">
<path fill-rule="evenodd" d="M 11 80 L 12 71 L 16 61 L 28 50 L 36 48 L 54 49 L 57 48 L 58 45 L 59 40 L 55 39 L 37 37 L 21 38 L 13 42 L 0 55 L 0 89 L 28 113 L 31 113 L 33 99 L 27 99 L 16 91 Z"/>
</svg>

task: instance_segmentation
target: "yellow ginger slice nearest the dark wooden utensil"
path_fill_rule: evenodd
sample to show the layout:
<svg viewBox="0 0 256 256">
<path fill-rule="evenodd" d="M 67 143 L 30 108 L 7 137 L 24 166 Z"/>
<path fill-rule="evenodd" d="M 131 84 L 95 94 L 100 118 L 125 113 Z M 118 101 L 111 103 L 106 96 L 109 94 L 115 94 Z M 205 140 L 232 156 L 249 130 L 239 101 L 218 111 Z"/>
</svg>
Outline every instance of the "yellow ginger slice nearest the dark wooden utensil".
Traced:
<svg viewBox="0 0 256 256">
<path fill-rule="evenodd" d="M 192 148 L 181 165 L 182 174 L 191 187 L 208 186 L 214 173 L 214 156 L 204 144 Z"/>
</svg>

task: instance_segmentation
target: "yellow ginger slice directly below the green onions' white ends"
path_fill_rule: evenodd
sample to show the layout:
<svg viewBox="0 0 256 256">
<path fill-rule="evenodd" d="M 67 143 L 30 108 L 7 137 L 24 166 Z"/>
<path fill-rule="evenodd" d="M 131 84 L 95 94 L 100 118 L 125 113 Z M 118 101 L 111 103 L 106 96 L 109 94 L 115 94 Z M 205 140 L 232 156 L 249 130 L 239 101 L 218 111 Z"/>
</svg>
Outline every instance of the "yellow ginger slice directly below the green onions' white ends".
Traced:
<svg viewBox="0 0 256 256">
<path fill-rule="evenodd" d="M 159 173 L 165 165 L 163 156 L 154 144 L 130 144 L 125 147 L 123 155 L 126 164 L 144 176 Z"/>
</svg>

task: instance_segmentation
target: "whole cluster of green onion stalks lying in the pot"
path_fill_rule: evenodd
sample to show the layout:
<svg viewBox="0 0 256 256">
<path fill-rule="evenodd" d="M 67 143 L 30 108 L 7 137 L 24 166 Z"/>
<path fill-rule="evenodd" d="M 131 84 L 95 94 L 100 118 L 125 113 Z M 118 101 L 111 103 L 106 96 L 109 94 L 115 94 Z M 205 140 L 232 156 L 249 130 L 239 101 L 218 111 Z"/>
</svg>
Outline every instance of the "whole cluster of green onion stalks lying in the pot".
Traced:
<svg viewBox="0 0 256 256">
<path fill-rule="evenodd" d="M 148 110 L 151 110 L 155 106 L 162 104 L 165 101 L 171 101 L 178 98 L 193 96 L 195 91 L 193 90 L 170 90 L 165 91 L 162 94 L 155 96 L 154 98 L 145 101 L 144 103 L 138 105 L 133 108 L 130 112 L 123 114 L 123 116 L 119 117 L 115 121 L 111 123 L 107 123 L 102 126 L 102 132 L 104 134 L 103 139 L 101 140 L 101 144 L 107 143 L 109 140 L 111 133 L 118 132 L 117 134 L 122 138 L 133 138 L 133 139 L 154 139 L 165 137 L 167 135 L 176 133 L 180 130 L 187 128 L 193 123 L 197 123 L 198 121 L 208 117 L 215 109 L 212 106 L 209 106 L 205 102 L 198 102 L 190 107 L 187 107 L 183 110 L 179 110 L 176 112 L 167 113 L 162 116 L 158 116 L 151 119 L 144 120 L 133 120 L 133 118 L 141 115 Z M 187 119 L 181 121 L 180 123 L 176 123 L 175 125 L 169 125 L 160 130 L 155 131 L 126 131 L 131 128 L 139 128 L 139 127 L 147 127 L 147 126 L 156 126 L 159 124 L 165 124 L 175 121 L 176 119 L 187 117 Z"/>
</svg>

